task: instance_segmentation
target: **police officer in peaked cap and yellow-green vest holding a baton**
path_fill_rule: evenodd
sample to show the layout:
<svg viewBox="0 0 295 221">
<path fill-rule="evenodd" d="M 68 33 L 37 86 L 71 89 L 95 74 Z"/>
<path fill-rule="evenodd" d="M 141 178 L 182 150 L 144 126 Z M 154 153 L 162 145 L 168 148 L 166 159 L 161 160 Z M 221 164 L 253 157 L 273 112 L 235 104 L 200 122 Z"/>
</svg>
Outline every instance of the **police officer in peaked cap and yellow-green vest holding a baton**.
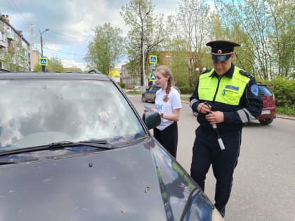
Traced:
<svg viewBox="0 0 295 221">
<path fill-rule="evenodd" d="M 190 97 L 190 107 L 198 113 L 199 122 L 190 173 L 204 191 L 206 173 L 212 165 L 216 178 L 215 206 L 224 216 L 240 153 L 242 126 L 261 114 L 263 102 L 254 76 L 232 64 L 234 47 L 239 44 L 210 41 L 206 46 L 211 47 L 214 69 L 200 74 Z"/>
</svg>

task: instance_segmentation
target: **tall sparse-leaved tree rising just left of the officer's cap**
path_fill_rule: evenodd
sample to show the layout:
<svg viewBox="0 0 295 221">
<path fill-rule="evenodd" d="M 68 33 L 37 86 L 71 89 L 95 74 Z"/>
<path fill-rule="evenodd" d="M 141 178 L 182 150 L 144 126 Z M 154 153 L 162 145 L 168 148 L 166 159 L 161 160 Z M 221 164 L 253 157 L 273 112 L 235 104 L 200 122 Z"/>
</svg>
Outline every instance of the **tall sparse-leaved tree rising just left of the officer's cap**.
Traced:
<svg viewBox="0 0 295 221">
<path fill-rule="evenodd" d="M 188 83 L 192 88 L 197 81 L 197 67 L 202 69 L 204 48 L 209 39 L 209 6 L 203 0 L 179 1 L 178 14 L 176 15 L 176 37 L 174 42 L 186 60 Z M 179 57 L 179 56 L 178 56 Z"/>
</svg>

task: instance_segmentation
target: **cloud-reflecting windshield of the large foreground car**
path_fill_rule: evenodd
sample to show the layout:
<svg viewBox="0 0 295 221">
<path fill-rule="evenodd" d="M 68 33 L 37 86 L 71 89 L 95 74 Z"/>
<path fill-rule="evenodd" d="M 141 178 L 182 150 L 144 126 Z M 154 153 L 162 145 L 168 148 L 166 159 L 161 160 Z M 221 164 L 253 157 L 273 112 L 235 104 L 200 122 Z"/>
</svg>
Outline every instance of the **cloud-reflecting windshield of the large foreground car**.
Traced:
<svg viewBox="0 0 295 221">
<path fill-rule="evenodd" d="M 0 93 L 0 151 L 146 133 L 111 81 L 7 79 Z"/>
</svg>

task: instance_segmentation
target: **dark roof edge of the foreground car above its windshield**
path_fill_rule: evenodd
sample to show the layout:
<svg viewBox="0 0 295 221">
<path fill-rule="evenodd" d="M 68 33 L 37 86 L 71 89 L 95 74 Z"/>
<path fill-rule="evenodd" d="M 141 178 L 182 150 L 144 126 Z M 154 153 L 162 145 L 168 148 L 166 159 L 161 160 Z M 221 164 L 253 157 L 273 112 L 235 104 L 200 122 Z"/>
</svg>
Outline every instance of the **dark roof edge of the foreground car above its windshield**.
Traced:
<svg viewBox="0 0 295 221">
<path fill-rule="evenodd" d="M 84 79 L 112 81 L 105 74 L 67 72 L 0 72 L 0 79 Z"/>
</svg>

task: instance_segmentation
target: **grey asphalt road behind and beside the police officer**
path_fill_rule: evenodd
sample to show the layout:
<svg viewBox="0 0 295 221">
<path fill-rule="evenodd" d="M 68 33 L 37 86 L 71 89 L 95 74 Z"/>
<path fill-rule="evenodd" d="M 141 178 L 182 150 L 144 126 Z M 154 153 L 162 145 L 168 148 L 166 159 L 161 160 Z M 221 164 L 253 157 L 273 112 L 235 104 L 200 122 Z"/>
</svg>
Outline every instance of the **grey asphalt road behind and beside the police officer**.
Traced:
<svg viewBox="0 0 295 221">
<path fill-rule="evenodd" d="M 143 114 L 140 95 L 129 95 Z M 153 107 L 152 103 L 145 105 Z M 178 122 L 177 160 L 190 172 L 192 144 L 198 123 L 188 102 Z M 152 131 L 152 130 L 150 130 Z M 242 132 L 240 158 L 235 169 L 226 221 L 295 220 L 295 121 L 277 118 L 268 126 L 248 123 Z M 205 193 L 214 202 L 215 178 L 206 178 Z"/>
</svg>

